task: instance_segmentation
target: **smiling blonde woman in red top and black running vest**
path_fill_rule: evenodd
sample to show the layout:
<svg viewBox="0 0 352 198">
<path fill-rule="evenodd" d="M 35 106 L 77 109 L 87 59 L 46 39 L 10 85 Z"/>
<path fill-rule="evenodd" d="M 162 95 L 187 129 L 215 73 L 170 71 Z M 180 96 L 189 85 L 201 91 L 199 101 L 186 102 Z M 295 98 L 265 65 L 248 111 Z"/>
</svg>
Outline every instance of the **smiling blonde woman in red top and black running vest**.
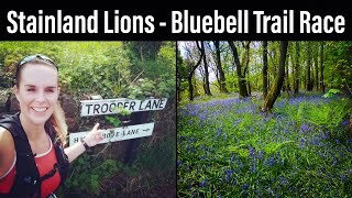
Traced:
<svg viewBox="0 0 352 198">
<path fill-rule="evenodd" d="M 64 148 L 58 67 L 44 55 L 19 62 L 14 94 L 20 112 L 0 117 L 0 197 L 54 196 L 69 162 L 103 140 L 102 131 L 97 123 L 82 142 Z"/>
</svg>

